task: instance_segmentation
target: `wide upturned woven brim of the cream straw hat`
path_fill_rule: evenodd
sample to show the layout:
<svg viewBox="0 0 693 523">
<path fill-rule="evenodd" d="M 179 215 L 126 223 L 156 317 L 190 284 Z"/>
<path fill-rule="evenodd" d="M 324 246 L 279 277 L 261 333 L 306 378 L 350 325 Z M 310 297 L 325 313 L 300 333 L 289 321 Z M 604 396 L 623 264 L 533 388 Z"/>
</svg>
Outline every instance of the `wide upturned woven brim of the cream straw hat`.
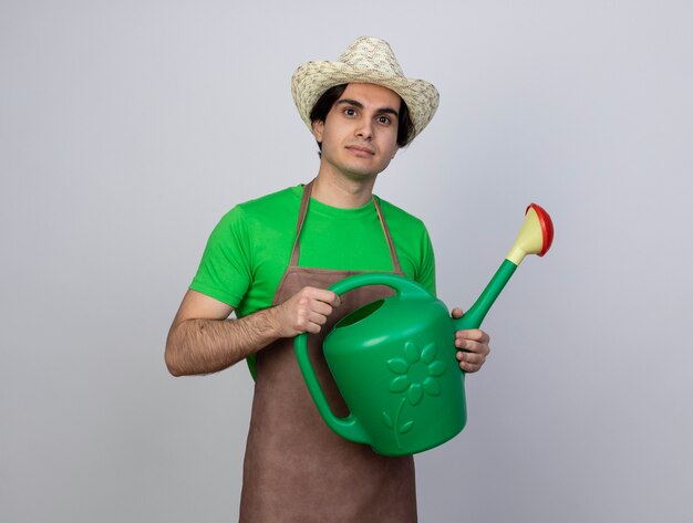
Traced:
<svg viewBox="0 0 693 523">
<path fill-rule="evenodd" d="M 308 62 L 293 73 L 291 94 L 301 119 L 309 129 L 312 130 L 310 113 L 320 96 L 335 85 L 349 83 L 382 85 L 397 93 L 406 103 L 414 124 L 411 139 L 428 125 L 438 107 L 438 91 L 426 81 L 354 67 L 343 62 Z"/>
</svg>

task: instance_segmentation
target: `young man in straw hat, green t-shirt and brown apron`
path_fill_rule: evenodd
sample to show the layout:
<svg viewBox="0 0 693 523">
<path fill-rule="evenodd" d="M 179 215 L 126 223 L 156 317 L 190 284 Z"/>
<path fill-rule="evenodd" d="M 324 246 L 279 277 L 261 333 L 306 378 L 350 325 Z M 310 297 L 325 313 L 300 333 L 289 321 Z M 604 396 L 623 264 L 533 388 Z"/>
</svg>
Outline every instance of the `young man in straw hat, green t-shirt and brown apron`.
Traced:
<svg viewBox="0 0 693 523">
<path fill-rule="evenodd" d="M 318 376 L 333 411 L 345 416 L 321 336 L 389 291 L 362 287 L 340 297 L 327 287 L 380 271 L 435 292 L 425 227 L 374 197 L 373 185 L 428 124 L 438 94 L 406 79 L 390 45 L 373 38 L 358 39 L 335 62 L 299 67 L 292 94 L 321 150 L 318 176 L 221 219 L 170 327 L 166 364 L 180 376 L 249 360 L 256 386 L 241 522 L 413 522 L 412 457 L 379 456 L 327 427 L 299 372 L 293 337 L 311 333 Z M 228 320 L 234 311 L 238 320 Z M 488 335 L 478 330 L 458 332 L 455 345 L 468 373 L 489 353 Z"/>
</svg>

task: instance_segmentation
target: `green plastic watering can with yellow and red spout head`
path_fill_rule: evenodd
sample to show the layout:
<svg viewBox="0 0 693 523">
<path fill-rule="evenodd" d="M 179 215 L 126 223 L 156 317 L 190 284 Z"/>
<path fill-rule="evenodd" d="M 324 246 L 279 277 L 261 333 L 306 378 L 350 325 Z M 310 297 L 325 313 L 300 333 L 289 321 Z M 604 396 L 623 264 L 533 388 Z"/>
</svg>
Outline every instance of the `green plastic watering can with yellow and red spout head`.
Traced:
<svg viewBox="0 0 693 523">
<path fill-rule="evenodd" d="M 298 363 L 328 426 L 341 437 L 384 456 L 437 447 L 458 435 L 467 414 L 464 372 L 455 332 L 478 328 L 527 254 L 544 255 L 554 239 L 549 215 L 531 203 L 513 249 L 476 303 L 461 318 L 422 285 L 394 274 L 345 278 L 330 290 L 343 294 L 386 285 L 393 296 L 364 305 L 340 320 L 323 342 L 330 372 L 350 414 L 337 417 L 308 356 L 308 334 L 296 338 Z"/>
</svg>

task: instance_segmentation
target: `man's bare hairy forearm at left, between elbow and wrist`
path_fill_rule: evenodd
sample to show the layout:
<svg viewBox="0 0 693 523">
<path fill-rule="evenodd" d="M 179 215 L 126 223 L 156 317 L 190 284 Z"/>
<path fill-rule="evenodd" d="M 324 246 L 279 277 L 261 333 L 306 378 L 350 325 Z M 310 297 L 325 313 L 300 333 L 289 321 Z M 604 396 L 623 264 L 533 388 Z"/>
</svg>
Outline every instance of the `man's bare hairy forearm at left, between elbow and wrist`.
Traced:
<svg viewBox="0 0 693 523">
<path fill-rule="evenodd" d="M 166 366 L 174 376 L 223 370 L 281 337 L 272 308 L 240 320 L 186 320 L 170 328 Z"/>
</svg>

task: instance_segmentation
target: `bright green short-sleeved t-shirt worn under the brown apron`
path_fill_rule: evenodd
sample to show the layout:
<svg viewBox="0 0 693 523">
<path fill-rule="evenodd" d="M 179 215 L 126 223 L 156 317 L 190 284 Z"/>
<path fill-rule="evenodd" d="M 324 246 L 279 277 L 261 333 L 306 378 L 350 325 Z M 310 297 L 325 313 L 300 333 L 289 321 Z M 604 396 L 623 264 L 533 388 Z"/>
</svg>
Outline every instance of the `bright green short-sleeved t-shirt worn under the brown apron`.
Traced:
<svg viewBox="0 0 693 523">
<path fill-rule="evenodd" d="M 211 232 L 190 289 L 235 307 L 238 317 L 271 305 L 289 265 L 303 187 L 231 209 Z M 435 294 L 435 261 L 423 222 L 379 199 L 404 274 Z M 301 230 L 299 266 L 392 272 L 372 201 L 339 209 L 311 198 Z"/>
</svg>

